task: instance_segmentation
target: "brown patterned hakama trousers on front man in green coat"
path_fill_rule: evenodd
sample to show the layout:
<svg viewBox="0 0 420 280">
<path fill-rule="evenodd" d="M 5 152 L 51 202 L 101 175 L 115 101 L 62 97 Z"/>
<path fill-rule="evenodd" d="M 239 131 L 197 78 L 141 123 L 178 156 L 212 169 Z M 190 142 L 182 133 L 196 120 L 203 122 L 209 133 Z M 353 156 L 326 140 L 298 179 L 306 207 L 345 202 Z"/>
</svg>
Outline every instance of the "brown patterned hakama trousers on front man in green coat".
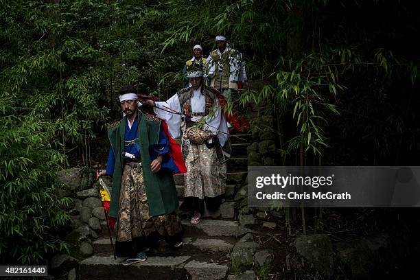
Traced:
<svg viewBox="0 0 420 280">
<path fill-rule="evenodd" d="M 159 239 L 169 244 L 182 240 L 183 227 L 175 213 L 149 216 L 148 198 L 140 163 L 127 163 L 121 180 L 116 253 L 131 256 L 153 246 Z"/>
</svg>

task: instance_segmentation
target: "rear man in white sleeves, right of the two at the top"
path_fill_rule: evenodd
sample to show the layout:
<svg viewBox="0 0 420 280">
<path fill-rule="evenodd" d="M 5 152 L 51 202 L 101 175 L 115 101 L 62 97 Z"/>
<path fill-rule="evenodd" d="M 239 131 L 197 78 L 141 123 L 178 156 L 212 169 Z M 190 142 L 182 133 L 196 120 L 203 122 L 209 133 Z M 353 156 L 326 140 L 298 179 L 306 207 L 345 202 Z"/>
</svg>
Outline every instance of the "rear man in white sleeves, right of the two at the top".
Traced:
<svg viewBox="0 0 420 280">
<path fill-rule="evenodd" d="M 247 86 L 245 62 L 239 51 L 229 47 L 225 36 L 216 36 L 215 42 L 218 49 L 207 58 L 206 72 L 211 78 L 210 86 L 229 99 L 237 89 Z"/>
</svg>

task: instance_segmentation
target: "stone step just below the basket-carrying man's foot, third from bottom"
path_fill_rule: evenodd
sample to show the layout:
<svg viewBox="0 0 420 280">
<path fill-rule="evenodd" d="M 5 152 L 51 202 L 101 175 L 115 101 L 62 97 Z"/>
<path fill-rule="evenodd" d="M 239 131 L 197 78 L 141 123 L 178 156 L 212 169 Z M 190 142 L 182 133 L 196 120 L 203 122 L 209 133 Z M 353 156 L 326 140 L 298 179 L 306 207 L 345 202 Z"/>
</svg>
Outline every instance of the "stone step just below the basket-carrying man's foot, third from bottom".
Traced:
<svg viewBox="0 0 420 280">
<path fill-rule="evenodd" d="M 204 236 L 232 236 L 241 237 L 252 230 L 240 226 L 237 221 L 230 220 L 201 220 L 199 224 L 190 224 L 189 220 L 183 220 L 185 235 Z"/>
</svg>

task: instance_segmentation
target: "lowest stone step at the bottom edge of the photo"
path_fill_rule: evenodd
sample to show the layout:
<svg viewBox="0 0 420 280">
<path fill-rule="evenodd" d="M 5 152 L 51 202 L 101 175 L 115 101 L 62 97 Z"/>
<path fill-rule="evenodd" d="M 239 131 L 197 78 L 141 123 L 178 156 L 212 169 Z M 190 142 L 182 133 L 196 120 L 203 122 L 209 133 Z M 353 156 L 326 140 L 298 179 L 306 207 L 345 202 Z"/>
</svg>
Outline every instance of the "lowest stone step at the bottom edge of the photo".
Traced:
<svg viewBox="0 0 420 280">
<path fill-rule="evenodd" d="M 80 279 L 225 279 L 228 263 L 198 261 L 190 256 L 148 257 L 146 261 L 122 266 L 123 258 L 93 255 L 80 263 Z"/>
</svg>

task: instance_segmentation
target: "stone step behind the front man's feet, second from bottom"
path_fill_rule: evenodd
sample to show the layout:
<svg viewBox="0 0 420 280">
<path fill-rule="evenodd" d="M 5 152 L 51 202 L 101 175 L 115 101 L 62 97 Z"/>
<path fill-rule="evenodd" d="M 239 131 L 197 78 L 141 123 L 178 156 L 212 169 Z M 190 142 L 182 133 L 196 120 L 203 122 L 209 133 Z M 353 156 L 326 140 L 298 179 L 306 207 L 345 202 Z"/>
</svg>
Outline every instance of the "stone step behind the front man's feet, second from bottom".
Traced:
<svg viewBox="0 0 420 280">
<path fill-rule="evenodd" d="M 219 254 L 227 255 L 231 253 L 233 246 L 235 245 L 235 238 L 233 237 L 184 237 L 183 245 L 178 248 L 174 248 L 161 240 L 155 246 L 151 248 L 148 254 L 159 255 L 159 256 L 180 256 L 180 255 L 202 255 L 204 254 Z M 115 243 L 115 238 L 113 240 Z M 93 242 L 93 250 L 95 254 L 107 254 L 113 255 L 113 248 L 110 244 L 109 237 L 100 237 Z"/>
</svg>

